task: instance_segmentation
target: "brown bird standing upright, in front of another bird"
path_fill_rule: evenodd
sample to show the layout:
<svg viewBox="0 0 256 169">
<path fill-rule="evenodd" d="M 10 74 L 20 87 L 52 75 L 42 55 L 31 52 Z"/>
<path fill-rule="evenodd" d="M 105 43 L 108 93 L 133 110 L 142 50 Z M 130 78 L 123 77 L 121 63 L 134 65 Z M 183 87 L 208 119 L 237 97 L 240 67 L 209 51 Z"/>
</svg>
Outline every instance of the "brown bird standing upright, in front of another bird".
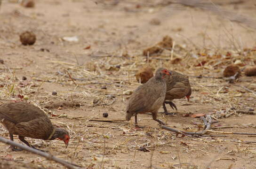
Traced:
<svg viewBox="0 0 256 169">
<path fill-rule="evenodd" d="M 165 124 L 157 119 L 158 109 L 165 100 L 166 75 L 171 73 L 165 68 L 157 69 L 155 76 L 145 84 L 140 85 L 131 95 L 126 109 L 126 120 L 129 121 L 135 116 L 137 125 L 137 114 L 152 113 L 153 120 L 160 124 Z"/>
</svg>

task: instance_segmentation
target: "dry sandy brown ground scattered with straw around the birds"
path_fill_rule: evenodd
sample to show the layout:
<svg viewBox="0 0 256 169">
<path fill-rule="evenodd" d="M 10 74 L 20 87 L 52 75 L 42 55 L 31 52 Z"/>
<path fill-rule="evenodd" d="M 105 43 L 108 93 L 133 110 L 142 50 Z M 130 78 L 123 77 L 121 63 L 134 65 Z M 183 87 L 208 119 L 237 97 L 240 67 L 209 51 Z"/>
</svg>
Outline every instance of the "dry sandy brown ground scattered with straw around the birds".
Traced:
<svg viewBox="0 0 256 169">
<path fill-rule="evenodd" d="M 144 129 L 133 125 L 134 118 L 124 121 L 129 94 L 140 85 L 136 72 L 162 66 L 189 75 L 192 86 L 190 102 L 174 100 L 177 112 L 168 107 L 176 115 L 159 114 L 169 127 L 201 131 L 202 121 L 191 115 L 209 114 L 218 121 L 211 125 L 214 131 L 256 133 L 256 115 L 246 113 L 256 106 L 256 77 L 243 71 L 233 83 L 193 77 L 221 77 L 231 63 L 240 69 L 256 64 L 256 2 L 204 2 L 213 10 L 167 0 L 36 0 L 34 8 L 3 0 L 1 101 L 42 108 L 54 125 L 69 131 L 70 145 L 27 140 L 84 168 L 256 169 L 256 135 L 208 132 L 215 136 L 189 138 L 161 129 L 151 115 L 138 115 Z M 21 44 L 24 31 L 35 33 L 34 45 Z M 166 35 L 175 42 L 173 50 L 147 60 L 143 50 Z M 2 126 L 0 134 L 8 138 Z M 15 141 L 21 143 L 16 136 Z M 26 151 L 13 152 L 4 143 L 0 158 L 1 169 L 64 168 Z"/>
</svg>

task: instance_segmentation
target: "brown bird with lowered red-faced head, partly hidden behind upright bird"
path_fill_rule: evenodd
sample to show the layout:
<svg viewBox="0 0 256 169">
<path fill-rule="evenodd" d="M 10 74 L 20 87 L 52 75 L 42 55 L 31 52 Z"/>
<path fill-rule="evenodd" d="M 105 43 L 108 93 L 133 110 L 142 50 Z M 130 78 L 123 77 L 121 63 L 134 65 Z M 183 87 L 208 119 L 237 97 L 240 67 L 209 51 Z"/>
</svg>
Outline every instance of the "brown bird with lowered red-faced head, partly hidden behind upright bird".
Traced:
<svg viewBox="0 0 256 169">
<path fill-rule="evenodd" d="M 173 115 L 168 113 L 165 104 L 169 104 L 171 108 L 177 110 L 176 105 L 172 102 L 174 99 L 181 99 L 186 97 L 189 101 L 191 95 L 191 87 L 187 76 L 180 74 L 176 71 L 171 71 L 172 76 L 166 76 L 166 95 L 163 102 L 164 113 L 166 115 Z M 169 100 L 169 101 L 167 101 Z"/>
</svg>

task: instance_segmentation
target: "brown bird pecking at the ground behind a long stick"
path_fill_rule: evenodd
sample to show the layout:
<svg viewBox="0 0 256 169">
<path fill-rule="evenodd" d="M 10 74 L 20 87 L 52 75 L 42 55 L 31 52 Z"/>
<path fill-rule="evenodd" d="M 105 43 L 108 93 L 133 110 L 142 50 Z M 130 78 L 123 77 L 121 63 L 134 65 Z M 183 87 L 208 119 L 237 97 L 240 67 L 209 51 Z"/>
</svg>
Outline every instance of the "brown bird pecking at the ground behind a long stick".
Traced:
<svg viewBox="0 0 256 169">
<path fill-rule="evenodd" d="M 27 146 L 35 148 L 24 138 L 36 138 L 54 140 L 59 138 L 64 141 L 66 147 L 69 142 L 68 131 L 63 128 L 55 128 L 48 116 L 38 107 L 26 102 L 4 103 L 0 106 L 0 123 L 9 131 L 10 139 L 18 135 L 19 139 Z M 11 146 L 14 151 L 21 151 Z M 37 148 L 35 148 L 37 149 Z"/>
</svg>

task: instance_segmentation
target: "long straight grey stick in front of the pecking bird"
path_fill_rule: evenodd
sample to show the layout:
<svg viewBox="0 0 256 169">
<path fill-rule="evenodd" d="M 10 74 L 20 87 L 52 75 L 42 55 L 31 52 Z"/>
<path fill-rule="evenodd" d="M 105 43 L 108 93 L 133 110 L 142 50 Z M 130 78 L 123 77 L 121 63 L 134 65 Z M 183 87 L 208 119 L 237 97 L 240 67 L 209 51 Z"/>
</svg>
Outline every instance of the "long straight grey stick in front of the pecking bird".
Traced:
<svg viewBox="0 0 256 169">
<path fill-rule="evenodd" d="M 40 156 L 43 156 L 43 157 L 47 158 L 48 160 L 56 161 L 57 163 L 60 163 L 60 164 L 64 165 L 68 169 L 81 169 L 82 168 L 81 166 L 79 166 L 77 164 L 74 164 L 74 163 L 71 163 L 71 162 L 68 162 L 68 161 L 64 161 L 64 160 L 62 160 L 60 158 L 57 158 L 57 157 L 55 157 L 51 154 L 42 152 L 40 150 L 36 150 L 36 149 L 31 148 L 29 146 L 23 146 L 19 143 L 13 142 L 13 141 L 11 141 L 9 139 L 6 139 L 6 138 L 3 138 L 1 136 L 0 136 L 0 142 L 6 143 L 6 144 L 11 145 L 11 146 L 19 147 L 19 148 L 21 148 L 23 150 L 26 150 L 28 152 L 31 152 L 33 154 L 38 154 Z"/>
</svg>

